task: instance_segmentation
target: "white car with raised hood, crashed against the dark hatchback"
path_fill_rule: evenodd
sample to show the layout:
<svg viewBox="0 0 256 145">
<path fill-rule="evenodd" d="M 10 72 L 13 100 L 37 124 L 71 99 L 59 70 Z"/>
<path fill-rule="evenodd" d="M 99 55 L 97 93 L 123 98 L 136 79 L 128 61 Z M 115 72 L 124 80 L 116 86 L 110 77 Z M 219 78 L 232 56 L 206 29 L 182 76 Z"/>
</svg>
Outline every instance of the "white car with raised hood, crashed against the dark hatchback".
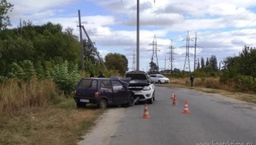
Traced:
<svg viewBox="0 0 256 145">
<path fill-rule="evenodd" d="M 146 72 L 135 70 L 124 74 L 124 78 L 128 77 L 131 78 L 128 88 L 134 93 L 133 98 L 152 104 L 155 101 L 155 85 L 149 75 Z"/>
</svg>

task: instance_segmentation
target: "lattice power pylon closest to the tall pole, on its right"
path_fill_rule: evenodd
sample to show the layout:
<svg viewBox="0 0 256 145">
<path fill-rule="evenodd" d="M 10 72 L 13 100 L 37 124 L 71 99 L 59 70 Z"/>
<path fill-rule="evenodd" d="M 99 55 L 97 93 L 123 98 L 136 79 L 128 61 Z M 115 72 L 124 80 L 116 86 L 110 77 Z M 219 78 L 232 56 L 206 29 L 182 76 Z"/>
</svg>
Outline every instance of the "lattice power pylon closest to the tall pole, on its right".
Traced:
<svg viewBox="0 0 256 145">
<path fill-rule="evenodd" d="M 158 59 L 157 59 L 157 52 L 158 52 L 159 50 L 157 50 L 157 37 L 155 37 L 155 35 L 154 35 L 154 37 L 153 37 L 153 43 L 150 44 L 150 45 L 153 46 L 153 48 L 152 48 L 153 54 L 152 54 L 151 63 L 150 63 L 150 73 L 152 73 L 153 70 L 154 70 L 154 69 L 153 69 L 153 63 L 156 64 L 156 67 L 158 68 L 158 69 L 157 69 L 157 72 L 159 72 L 159 65 L 158 65 Z"/>
</svg>

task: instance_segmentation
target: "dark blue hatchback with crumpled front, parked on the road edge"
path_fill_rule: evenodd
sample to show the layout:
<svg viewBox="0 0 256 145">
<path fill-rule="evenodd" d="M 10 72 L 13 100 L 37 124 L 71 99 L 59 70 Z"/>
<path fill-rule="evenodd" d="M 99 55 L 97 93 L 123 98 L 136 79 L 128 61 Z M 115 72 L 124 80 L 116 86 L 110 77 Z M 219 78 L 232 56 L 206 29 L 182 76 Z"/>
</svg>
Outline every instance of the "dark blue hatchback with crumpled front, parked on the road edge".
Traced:
<svg viewBox="0 0 256 145">
<path fill-rule="evenodd" d="M 130 79 L 110 78 L 82 78 L 74 92 L 77 108 L 86 104 L 97 104 L 105 109 L 108 105 L 133 106 L 133 93 L 128 90 Z"/>
</svg>

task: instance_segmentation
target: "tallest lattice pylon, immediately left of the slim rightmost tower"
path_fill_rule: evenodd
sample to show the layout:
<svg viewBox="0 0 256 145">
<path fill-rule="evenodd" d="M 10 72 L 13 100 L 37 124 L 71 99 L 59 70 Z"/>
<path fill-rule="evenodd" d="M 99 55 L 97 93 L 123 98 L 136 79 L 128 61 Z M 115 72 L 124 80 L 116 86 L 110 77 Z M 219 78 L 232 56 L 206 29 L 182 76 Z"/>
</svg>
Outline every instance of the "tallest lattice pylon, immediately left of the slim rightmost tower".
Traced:
<svg viewBox="0 0 256 145">
<path fill-rule="evenodd" d="M 186 54 L 183 73 L 185 70 L 188 70 L 189 72 L 191 72 L 191 70 L 190 70 L 190 55 L 192 55 L 192 53 L 190 53 L 190 48 L 192 48 L 193 46 L 190 46 L 190 41 L 193 41 L 193 40 L 190 39 L 190 32 L 188 31 L 188 34 L 186 37 L 186 46 L 181 46 L 181 48 L 186 47 L 186 53 L 182 53 L 182 54 Z"/>
</svg>

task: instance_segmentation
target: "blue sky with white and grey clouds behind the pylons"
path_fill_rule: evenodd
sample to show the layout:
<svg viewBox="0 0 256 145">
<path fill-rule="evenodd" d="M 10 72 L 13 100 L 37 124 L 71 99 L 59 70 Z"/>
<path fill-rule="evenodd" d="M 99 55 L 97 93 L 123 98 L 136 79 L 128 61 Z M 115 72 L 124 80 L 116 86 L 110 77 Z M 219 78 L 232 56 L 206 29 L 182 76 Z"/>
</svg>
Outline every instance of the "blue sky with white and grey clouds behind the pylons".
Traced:
<svg viewBox="0 0 256 145">
<path fill-rule="evenodd" d="M 137 0 L 9 0 L 14 4 L 10 19 L 13 27 L 19 19 L 44 24 L 60 23 L 63 28 L 74 28 L 79 35 L 78 14 L 84 28 L 96 43 L 101 56 L 117 52 L 126 55 L 132 70 L 132 53 L 136 50 L 136 3 Z M 223 61 L 237 55 L 242 47 L 255 46 L 256 2 L 253 0 L 140 0 L 140 70 L 149 69 L 154 35 L 157 36 L 159 68 L 169 68 L 168 47 L 175 47 L 175 68 L 183 70 L 187 32 L 195 37 L 197 32 L 196 58 L 217 56 Z M 83 38 L 86 38 L 83 35 Z M 190 41 L 195 46 L 194 41 Z M 194 48 L 190 48 L 190 69 L 193 71 Z M 166 61 L 164 61 L 166 59 Z M 185 69 L 186 70 L 186 69 Z"/>
</svg>

